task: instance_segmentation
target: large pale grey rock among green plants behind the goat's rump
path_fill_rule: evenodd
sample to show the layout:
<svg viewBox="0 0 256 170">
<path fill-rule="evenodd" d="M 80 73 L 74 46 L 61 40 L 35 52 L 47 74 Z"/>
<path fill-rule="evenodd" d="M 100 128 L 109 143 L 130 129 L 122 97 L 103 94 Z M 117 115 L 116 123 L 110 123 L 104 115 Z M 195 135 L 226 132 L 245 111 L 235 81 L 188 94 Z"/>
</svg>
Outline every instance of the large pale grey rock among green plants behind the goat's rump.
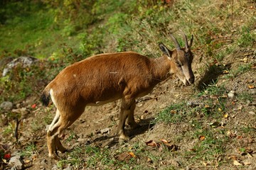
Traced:
<svg viewBox="0 0 256 170">
<path fill-rule="evenodd" d="M 31 67 L 31 65 L 37 61 L 38 59 L 36 59 L 35 57 L 18 57 L 12 60 L 11 62 L 9 62 L 8 64 L 6 64 L 6 67 L 4 67 L 2 76 L 6 77 L 6 75 L 10 72 L 10 70 L 18 65 L 21 66 L 22 68 Z"/>
</svg>

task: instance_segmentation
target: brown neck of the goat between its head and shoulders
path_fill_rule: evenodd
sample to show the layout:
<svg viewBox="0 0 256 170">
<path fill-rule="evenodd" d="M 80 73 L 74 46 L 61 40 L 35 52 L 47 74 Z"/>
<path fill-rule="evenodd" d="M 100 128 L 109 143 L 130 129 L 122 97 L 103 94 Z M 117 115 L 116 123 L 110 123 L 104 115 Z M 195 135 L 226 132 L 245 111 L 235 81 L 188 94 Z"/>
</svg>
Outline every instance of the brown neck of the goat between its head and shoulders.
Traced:
<svg viewBox="0 0 256 170">
<path fill-rule="evenodd" d="M 152 79 L 163 81 L 170 77 L 171 74 L 169 73 L 169 70 L 171 69 L 171 66 L 169 63 L 169 58 L 165 55 L 156 59 L 151 59 Z"/>
</svg>

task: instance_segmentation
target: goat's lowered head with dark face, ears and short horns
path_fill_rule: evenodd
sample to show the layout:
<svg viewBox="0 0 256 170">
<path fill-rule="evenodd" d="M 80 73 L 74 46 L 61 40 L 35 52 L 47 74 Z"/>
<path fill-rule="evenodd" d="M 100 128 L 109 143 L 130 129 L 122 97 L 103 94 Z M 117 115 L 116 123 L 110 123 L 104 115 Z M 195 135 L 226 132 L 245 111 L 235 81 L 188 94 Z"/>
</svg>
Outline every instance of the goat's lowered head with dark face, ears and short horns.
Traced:
<svg viewBox="0 0 256 170">
<path fill-rule="evenodd" d="M 176 74 L 176 76 L 185 84 L 186 86 L 193 84 L 195 77 L 191 68 L 193 61 L 193 54 L 191 52 L 191 46 L 193 43 L 193 35 L 191 41 L 188 45 L 188 38 L 183 34 L 183 40 L 185 41 L 185 47 L 178 44 L 178 41 L 171 35 L 171 40 L 174 42 L 176 47 L 175 50 L 169 50 L 163 43 L 159 43 L 159 47 L 164 54 L 169 57 L 171 64 L 170 74 Z"/>
</svg>

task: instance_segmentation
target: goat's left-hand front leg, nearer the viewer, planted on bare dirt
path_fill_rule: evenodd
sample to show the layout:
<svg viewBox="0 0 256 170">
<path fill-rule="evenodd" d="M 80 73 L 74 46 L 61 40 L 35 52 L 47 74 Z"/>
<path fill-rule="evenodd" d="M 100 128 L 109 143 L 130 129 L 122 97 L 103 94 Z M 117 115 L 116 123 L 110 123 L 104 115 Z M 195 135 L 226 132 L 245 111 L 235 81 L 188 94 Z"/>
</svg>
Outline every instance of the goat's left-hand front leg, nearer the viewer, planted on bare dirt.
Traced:
<svg viewBox="0 0 256 170">
<path fill-rule="evenodd" d="M 119 125 L 117 128 L 117 134 L 119 135 L 119 142 L 124 142 L 129 140 L 129 137 L 124 132 L 125 121 L 127 120 L 128 116 L 130 115 L 133 106 L 135 103 L 134 99 L 130 99 L 129 97 L 122 98 L 122 106 L 121 106 L 121 113 L 119 115 Z M 134 119 L 133 119 L 134 121 Z M 132 121 L 131 121 L 132 123 Z"/>
</svg>

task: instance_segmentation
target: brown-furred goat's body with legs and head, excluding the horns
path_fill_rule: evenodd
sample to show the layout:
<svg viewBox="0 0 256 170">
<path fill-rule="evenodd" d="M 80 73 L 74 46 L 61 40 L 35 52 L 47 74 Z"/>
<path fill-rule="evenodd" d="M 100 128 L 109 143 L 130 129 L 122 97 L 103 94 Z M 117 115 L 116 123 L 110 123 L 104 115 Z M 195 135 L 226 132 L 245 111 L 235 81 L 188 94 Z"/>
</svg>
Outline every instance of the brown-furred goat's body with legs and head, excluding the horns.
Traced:
<svg viewBox="0 0 256 170">
<path fill-rule="evenodd" d="M 56 159 L 57 150 L 65 152 L 58 135 L 80 117 L 85 106 L 99 106 L 122 98 L 117 134 L 120 140 L 127 140 L 125 120 L 134 128 L 139 126 L 134 121 L 135 98 L 148 94 L 171 74 L 177 74 L 186 85 L 193 84 L 191 51 L 185 57 L 184 49 L 171 51 L 161 45 L 161 50 L 167 55 L 157 59 L 136 52 L 120 52 L 88 57 L 63 69 L 43 91 L 45 105 L 50 96 L 57 108 L 47 132 L 49 156 Z"/>
</svg>

